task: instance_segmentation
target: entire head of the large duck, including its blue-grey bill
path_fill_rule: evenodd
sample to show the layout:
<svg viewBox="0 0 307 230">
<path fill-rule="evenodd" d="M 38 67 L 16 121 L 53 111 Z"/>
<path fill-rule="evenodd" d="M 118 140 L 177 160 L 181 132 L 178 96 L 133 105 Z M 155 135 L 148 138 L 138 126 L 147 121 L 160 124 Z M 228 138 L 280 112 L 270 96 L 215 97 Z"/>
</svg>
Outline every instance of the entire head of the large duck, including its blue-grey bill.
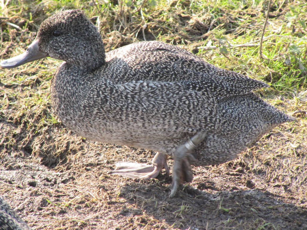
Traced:
<svg viewBox="0 0 307 230">
<path fill-rule="evenodd" d="M 35 40 L 24 53 L 0 65 L 14 68 L 45 57 L 93 70 L 105 62 L 105 51 L 98 29 L 84 12 L 65 10 L 41 23 Z"/>
</svg>

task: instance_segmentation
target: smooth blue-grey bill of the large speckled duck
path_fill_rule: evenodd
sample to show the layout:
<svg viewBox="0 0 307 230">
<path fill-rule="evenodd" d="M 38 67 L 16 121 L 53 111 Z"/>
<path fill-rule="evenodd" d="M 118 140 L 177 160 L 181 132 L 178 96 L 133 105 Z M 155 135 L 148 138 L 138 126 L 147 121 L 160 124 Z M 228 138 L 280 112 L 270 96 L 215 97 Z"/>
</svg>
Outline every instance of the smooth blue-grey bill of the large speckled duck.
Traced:
<svg viewBox="0 0 307 230">
<path fill-rule="evenodd" d="M 21 66 L 27 62 L 35 61 L 45 57 L 48 57 L 48 54 L 40 52 L 38 48 L 38 41 L 34 40 L 24 53 L 16 57 L 3 60 L 0 62 L 0 66 L 3 68 L 11 69 Z"/>
</svg>

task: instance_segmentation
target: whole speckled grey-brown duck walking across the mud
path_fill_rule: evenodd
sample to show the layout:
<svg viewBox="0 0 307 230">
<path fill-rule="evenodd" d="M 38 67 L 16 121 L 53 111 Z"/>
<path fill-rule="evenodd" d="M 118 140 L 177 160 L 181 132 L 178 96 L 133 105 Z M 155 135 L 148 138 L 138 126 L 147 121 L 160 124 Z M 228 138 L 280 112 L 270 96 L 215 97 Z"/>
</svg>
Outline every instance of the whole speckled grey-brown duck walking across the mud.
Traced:
<svg viewBox="0 0 307 230">
<path fill-rule="evenodd" d="M 105 52 L 98 28 L 80 9 L 43 21 L 24 53 L 3 68 L 51 57 L 62 60 L 51 80 L 52 107 L 76 134 L 103 143 L 156 151 L 150 165 L 119 162 L 110 174 L 148 180 L 174 160 L 169 197 L 193 179 L 192 165 L 234 159 L 286 113 L 254 91 L 265 82 L 216 67 L 160 41 Z"/>
</svg>

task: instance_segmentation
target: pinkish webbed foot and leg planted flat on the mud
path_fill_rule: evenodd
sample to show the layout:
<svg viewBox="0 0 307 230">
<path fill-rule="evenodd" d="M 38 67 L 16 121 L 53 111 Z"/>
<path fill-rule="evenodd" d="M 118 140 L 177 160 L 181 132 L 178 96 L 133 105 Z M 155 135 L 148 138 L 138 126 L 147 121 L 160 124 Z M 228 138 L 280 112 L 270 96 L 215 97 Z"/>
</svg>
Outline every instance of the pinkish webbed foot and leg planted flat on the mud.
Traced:
<svg viewBox="0 0 307 230">
<path fill-rule="evenodd" d="M 149 180 L 150 178 L 156 178 L 163 168 L 165 168 L 166 173 L 169 174 L 169 167 L 166 160 L 167 155 L 158 152 L 154 156 L 151 165 L 119 162 L 115 164 L 115 170 L 109 171 L 108 173 L 119 174 L 131 179 L 140 178 Z"/>
</svg>

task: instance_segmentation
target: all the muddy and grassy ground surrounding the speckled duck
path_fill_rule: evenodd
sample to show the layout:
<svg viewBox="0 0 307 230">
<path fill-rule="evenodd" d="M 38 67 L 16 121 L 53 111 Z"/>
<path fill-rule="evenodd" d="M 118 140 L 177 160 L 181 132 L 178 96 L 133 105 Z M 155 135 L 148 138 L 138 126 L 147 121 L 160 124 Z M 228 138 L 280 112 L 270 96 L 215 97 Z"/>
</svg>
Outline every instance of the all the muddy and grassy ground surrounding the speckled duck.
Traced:
<svg viewBox="0 0 307 230">
<path fill-rule="evenodd" d="M 107 174 L 119 161 L 150 163 L 155 152 L 86 140 L 58 120 L 49 86 L 60 61 L 0 69 L 0 196 L 30 227 L 307 229 L 305 1 L 272 1 L 262 42 L 269 1 L 0 4 L 1 59 L 23 52 L 52 13 L 82 8 L 99 26 L 107 51 L 140 40 L 180 46 L 265 81 L 270 88 L 257 94 L 296 118 L 237 159 L 193 167 L 193 181 L 170 199 L 171 175 L 165 172 L 150 181 Z M 168 163 L 172 166 L 172 159 Z"/>
</svg>

